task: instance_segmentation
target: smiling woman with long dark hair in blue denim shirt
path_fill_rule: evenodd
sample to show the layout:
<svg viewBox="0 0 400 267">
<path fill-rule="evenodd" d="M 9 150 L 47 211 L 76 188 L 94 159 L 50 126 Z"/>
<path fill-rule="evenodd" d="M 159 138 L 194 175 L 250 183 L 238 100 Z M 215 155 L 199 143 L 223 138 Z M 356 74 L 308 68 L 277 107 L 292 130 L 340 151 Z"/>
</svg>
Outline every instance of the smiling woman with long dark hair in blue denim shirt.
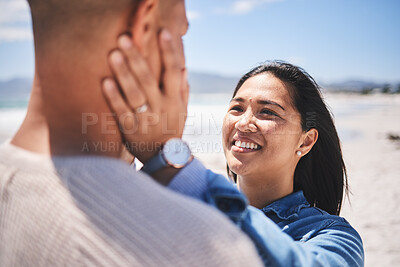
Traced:
<svg viewBox="0 0 400 267">
<path fill-rule="evenodd" d="M 162 52 L 172 59 L 171 51 Z M 119 73 L 112 64 L 116 77 L 126 77 L 127 71 Z M 120 83 L 125 95 L 132 96 L 139 84 L 146 84 L 141 77 L 149 77 L 148 68 L 132 72 L 129 79 L 139 81 L 136 86 Z M 164 84 L 171 86 L 165 82 L 168 79 L 166 74 Z M 179 80 L 176 72 L 175 80 Z M 149 96 L 150 91 L 159 92 L 143 86 L 140 90 Z M 131 112 L 116 90 L 114 95 L 105 93 L 111 108 L 118 105 L 118 114 Z M 145 123 L 138 116 L 137 120 Z M 123 127 L 121 118 L 119 123 Z M 125 138 L 132 140 L 128 134 Z M 347 190 L 340 142 L 318 85 L 305 71 L 275 61 L 244 75 L 224 119 L 223 146 L 229 175 L 257 209 L 246 206 L 232 184 L 198 162 L 185 167 L 172 183 L 187 180 L 190 175 L 185 175 L 194 172 L 196 179 L 206 177 L 203 195 L 197 189 L 183 193 L 198 195 L 229 216 L 253 240 L 265 265 L 363 266 L 360 236 L 337 216 Z"/>
</svg>

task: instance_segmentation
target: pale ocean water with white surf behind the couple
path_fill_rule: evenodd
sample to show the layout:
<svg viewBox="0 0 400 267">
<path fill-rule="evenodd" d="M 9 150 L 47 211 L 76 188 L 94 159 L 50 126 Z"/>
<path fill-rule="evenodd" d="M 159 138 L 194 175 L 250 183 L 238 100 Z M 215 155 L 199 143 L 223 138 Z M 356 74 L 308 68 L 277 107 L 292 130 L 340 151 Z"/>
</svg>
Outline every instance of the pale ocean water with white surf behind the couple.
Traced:
<svg viewBox="0 0 400 267">
<path fill-rule="evenodd" d="M 227 111 L 231 94 L 192 94 L 189 100 L 188 117 L 183 139 L 193 152 L 221 153 L 222 120 Z M 327 104 L 335 120 L 379 108 L 383 104 L 371 98 L 328 97 Z M 9 139 L 17 131 L 26 114 L 27 100 L 0 101 L 0 142 Z M 355 130 L 338 129 L 342 141 L 357 138 Z"/>
</svg>

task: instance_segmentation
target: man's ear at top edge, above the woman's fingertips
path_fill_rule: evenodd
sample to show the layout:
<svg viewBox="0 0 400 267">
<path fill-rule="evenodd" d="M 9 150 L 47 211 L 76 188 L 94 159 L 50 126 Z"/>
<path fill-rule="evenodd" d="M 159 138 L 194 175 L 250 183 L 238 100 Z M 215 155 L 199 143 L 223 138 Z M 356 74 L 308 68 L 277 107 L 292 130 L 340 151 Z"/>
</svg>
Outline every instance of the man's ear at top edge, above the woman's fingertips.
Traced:
<svg viewBox="0 0 400 267">
<path fill-rule="evenodd" d="M 130 31 L 132 41 L 138 47 L 143 56 L 149 53 L 150 43 L 157 38 L 159 29 L 158 0 L 142 0 L 139 2 L 135 14 L 132 16 Z M 155 39 L 157 40 L 157 39 Z"/>
</svg>

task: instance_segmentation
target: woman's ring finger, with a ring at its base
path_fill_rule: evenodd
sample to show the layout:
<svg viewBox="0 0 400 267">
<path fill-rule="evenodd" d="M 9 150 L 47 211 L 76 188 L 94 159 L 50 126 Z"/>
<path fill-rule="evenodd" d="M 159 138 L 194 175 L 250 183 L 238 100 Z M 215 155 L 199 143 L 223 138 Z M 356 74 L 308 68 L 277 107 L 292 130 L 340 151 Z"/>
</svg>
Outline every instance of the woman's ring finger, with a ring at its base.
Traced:
<svg viewBox="0 0 400 267">
<path fill-rule="evenodd" d="M 129 105 L 132 108 L 137 108 L 146 103 L 145 95 L 139 90 L 135 77 L 131 73 L 124 56 L 118 50 L 110 54 L 111 68 L 121 85 Z"/>
</svg>

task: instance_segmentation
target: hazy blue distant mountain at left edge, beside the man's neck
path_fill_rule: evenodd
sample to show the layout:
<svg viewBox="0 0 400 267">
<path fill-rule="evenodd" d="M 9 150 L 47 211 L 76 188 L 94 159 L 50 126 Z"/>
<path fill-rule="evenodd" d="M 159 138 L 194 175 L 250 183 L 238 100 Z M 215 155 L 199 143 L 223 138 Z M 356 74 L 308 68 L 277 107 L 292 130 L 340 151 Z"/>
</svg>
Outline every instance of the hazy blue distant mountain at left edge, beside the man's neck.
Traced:
<svg viewBox="0 0 400 267">
<path fill-rule="evenodd" d="M 17 78 L 8 81 L 0 81 L 0 100 L 14 101 L 29 98 L 32 79 Z"/>
</svg>

